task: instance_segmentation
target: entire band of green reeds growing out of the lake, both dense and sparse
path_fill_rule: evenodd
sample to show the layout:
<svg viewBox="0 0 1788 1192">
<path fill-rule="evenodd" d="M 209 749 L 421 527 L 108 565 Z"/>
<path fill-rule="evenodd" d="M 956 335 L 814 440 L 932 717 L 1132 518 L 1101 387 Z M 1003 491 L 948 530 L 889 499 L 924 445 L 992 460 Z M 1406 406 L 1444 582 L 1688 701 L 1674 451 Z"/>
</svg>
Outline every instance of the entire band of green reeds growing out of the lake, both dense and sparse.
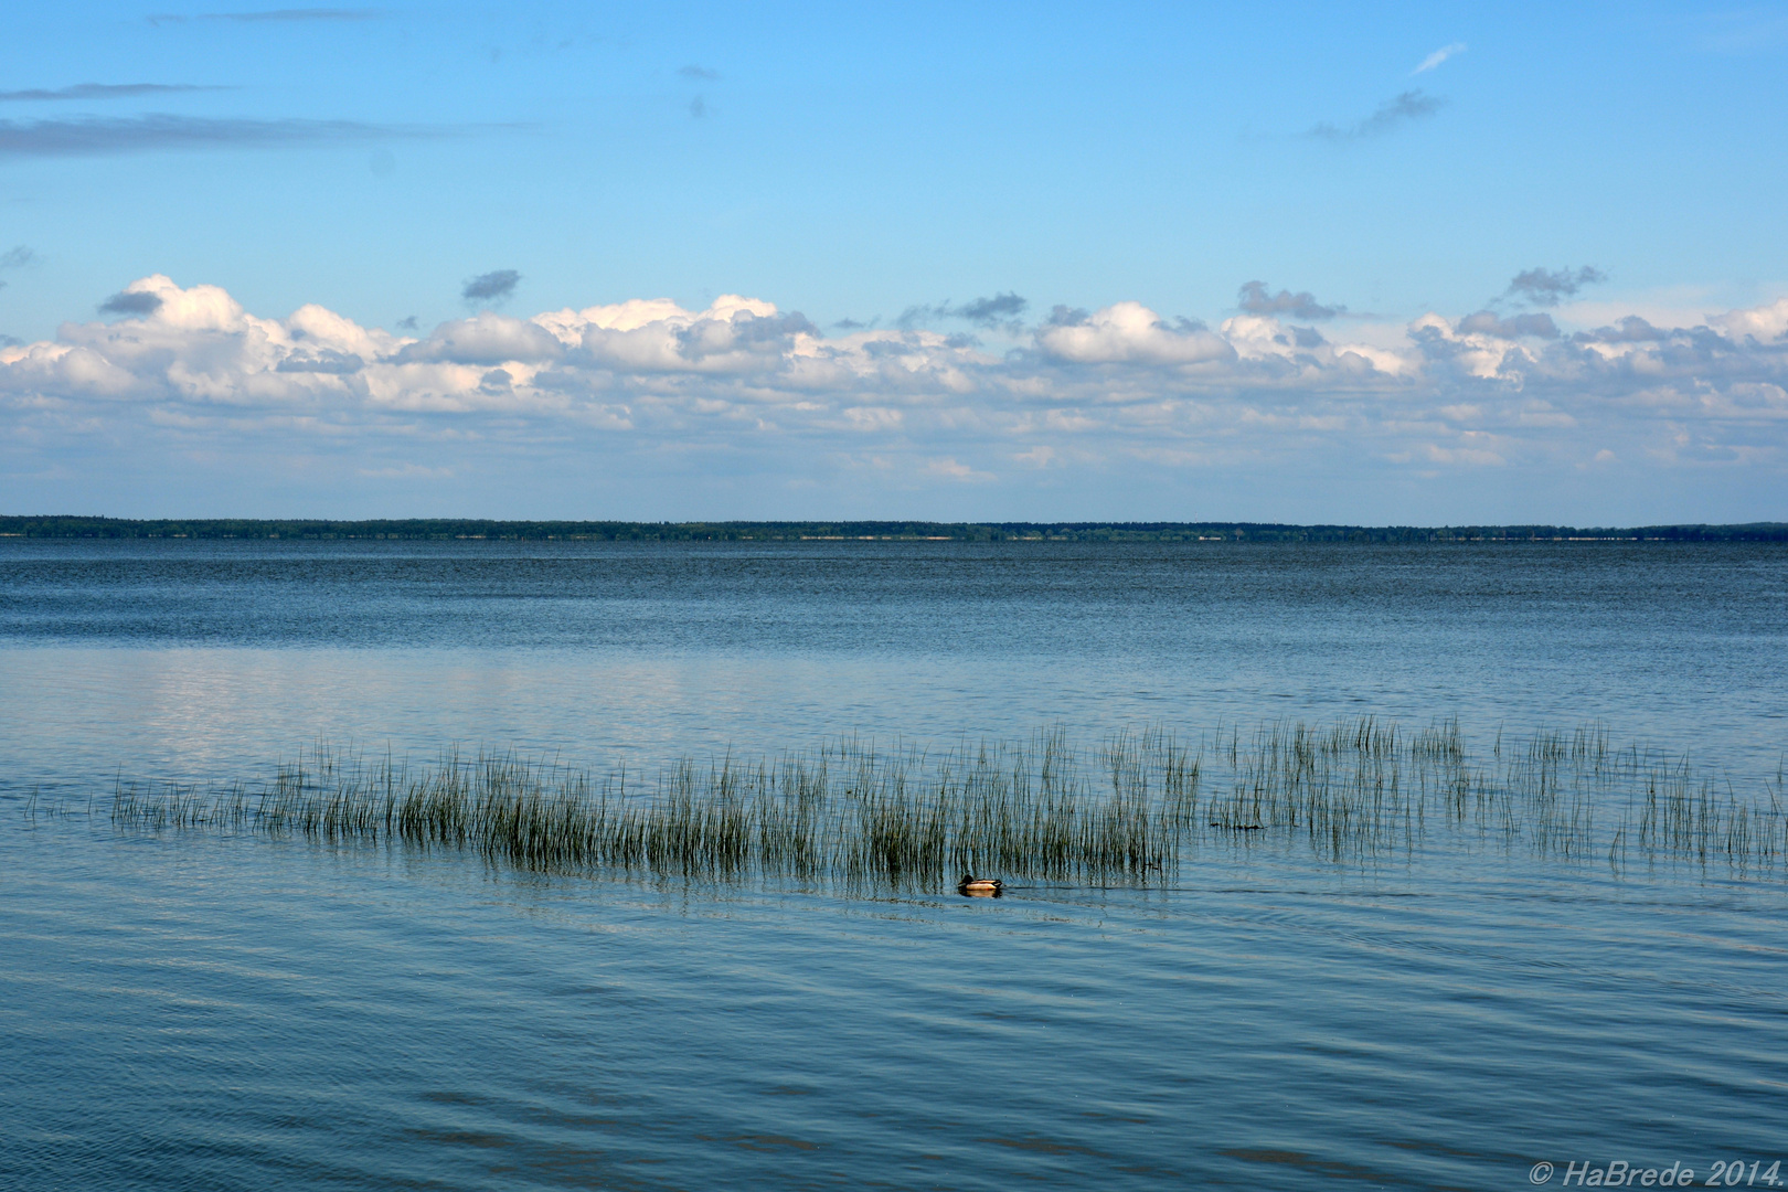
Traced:
<svg viewBox="0 0 1788 1192">
<path fill-rule="evenodd" d="M 939 756 L 839 740 L 617 772 L 449 752 L 433 765 L 316 749 L 257 788 L 120 786 L 113 820 L 222 826 L 327 842 L 479 852 L 531 870 L 685 877 L 783 874 L 944 888 L 958 876 L 1151 885 L 1200 847 L 1307 847 L 1354 863 L 1441 840 L 1545 858 L 1784 867 L 1783 776 L 1759 797 L 1686 760 L 1615 751 L 1600 729 L 1500 735 L 1473 756 L 1455 720 L 1405 733 L 1373 717 L 1262 724 L 1182 742 L 1123 733 L 1082 752 L 1066 733 Z M 1788 867 L 1784 867 L 1788 869 Z"/>
</svg>

